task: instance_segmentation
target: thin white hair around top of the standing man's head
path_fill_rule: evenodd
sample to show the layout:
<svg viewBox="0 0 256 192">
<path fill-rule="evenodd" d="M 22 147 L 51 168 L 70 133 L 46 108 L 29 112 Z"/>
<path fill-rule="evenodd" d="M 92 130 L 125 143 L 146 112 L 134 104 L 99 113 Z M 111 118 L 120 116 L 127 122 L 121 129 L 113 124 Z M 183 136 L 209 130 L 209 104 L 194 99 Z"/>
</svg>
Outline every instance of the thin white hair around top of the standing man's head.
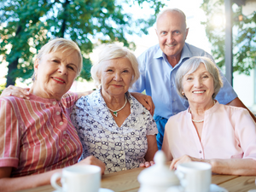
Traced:
<svg viewBox="0 0 256 192">
<path fill-rule="evenodd" d="M 159 23 L 160 18 L 169 17 L 172 15 L 177 15 L 178 17 L 180 17 L 180 20 L 182 20 L 182 22 L 183 22 L 183 27 L 185 29 L 187 28 L 186 15 L 183 13 L 182 10 L 175 8 L 175 9 L 165 9 L 162 12 L 160 12 L 159 15 L 157 15 L 156 29 L 158 29 L 158 23 Z"/>
</svg>

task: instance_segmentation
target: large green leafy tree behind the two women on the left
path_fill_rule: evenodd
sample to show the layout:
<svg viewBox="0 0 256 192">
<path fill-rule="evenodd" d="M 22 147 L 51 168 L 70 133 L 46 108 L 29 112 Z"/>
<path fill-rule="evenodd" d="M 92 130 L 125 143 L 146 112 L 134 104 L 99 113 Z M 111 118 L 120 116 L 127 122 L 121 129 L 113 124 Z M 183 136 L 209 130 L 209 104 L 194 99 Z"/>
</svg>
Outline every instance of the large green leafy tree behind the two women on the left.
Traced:
<svg viewBox="0 0 256 192">
<path fill-rule="evenodd" d="M 134 20 L 122 5 L 148 3 L 154 14 L 147 19 Z M 147 34 L 154 24 L 155 15 L 164 6 L 160 0 L 0 0 L 0 55 L 9 62 L 7 84 L 15 79 L 32 76 L 32 59 L 50 38 L 71 38 L 84 55 L 80 77 L 90 79 L 89 53 L 94 40 L 99 44 L 123 42 L 131 49 L 127 34 Z"/>
</svg>

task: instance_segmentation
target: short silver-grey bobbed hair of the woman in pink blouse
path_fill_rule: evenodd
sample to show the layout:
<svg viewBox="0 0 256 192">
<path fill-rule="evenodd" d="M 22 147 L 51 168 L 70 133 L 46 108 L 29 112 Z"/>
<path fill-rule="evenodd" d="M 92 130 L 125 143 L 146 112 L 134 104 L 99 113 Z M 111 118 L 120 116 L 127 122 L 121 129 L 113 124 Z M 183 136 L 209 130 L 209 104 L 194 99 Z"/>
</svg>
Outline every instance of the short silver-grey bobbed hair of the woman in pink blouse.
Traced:
<svg viewBox="0 0 256 192">
<path fill-rule="evenodd" d="M 182 95 L 183 77 L 187 73 L 194 73 L 195 70 L 200 66 L 201 63 L 203 63 L 205 65 L 208 73 L 211 74 L 212 79 L 213 79 L 214 91 L 212 94 L 212 99 L 214 99 L 215 96 L 217 96 L 218 91 L 223 86 L 223 81 L 219 74 L 218 67 L 216 66 L 214 61 L 212 61 L 210 58 L 208 58 L 206 56 L 191 57 L 189 60 L 184 61 L 183 64 L 181 65 L 181 67 L 179 67 L 179 69 L 177 70 L 176 76 L 175 76 L 175 84 L 176 84 L 176 89 L 177 89 L 177 93 L 179 96 L 187 99 L 186 96 Z"/>
</svg>

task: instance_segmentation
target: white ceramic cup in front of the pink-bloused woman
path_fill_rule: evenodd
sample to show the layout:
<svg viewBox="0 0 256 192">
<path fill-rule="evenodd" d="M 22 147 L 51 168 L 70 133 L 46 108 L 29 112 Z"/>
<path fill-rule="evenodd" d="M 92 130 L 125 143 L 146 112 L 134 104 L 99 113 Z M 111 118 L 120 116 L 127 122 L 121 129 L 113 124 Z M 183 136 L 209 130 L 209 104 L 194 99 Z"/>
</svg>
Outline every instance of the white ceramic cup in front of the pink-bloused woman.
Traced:
<svg viewBox="0 0 256 192">
<path fill-rule="evenodd" d="M 185 192 L 209 192 L 212 183 L 212 166 L 204 162 L 177 165 L 177 177 Z"/>
</svg>

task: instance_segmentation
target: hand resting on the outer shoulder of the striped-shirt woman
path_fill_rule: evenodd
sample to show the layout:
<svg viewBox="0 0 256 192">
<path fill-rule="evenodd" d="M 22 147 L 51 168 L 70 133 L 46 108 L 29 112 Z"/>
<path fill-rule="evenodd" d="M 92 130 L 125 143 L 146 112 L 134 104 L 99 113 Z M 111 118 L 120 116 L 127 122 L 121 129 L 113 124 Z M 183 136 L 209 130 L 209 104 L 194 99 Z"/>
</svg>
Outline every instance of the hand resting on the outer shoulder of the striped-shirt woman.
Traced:
<svg viewBox="0 0 256 192">
<path fill-rule="evenodd" d="M 24 99 L 29 99 L 29 88 L 20 88 L 15 87 L 14 85 L 9 85 L 7 88 L 5 88 L 1 94 L 0 97 L 3 96 L 17 96 Z"/>
</svg>

